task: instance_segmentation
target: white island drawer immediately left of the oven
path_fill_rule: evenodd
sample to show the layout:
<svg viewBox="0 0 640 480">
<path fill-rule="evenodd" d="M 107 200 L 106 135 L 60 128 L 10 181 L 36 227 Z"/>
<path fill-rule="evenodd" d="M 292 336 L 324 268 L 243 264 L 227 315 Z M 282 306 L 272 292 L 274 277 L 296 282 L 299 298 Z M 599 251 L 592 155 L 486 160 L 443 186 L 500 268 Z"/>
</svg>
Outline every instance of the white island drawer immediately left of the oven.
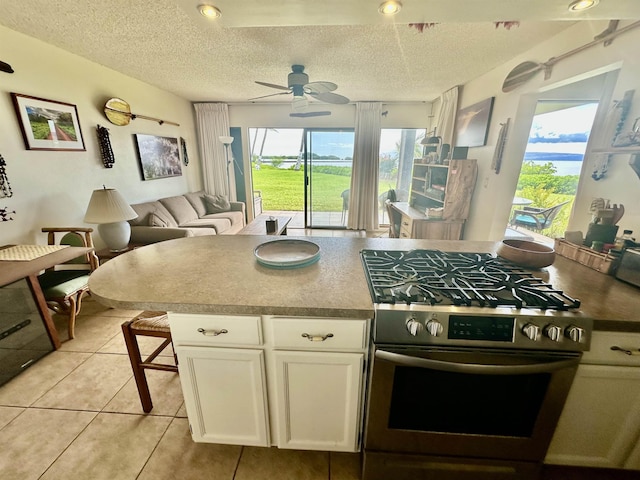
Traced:
<svg viewBox="0 0 640 480">
<path fill-rule="evenodd" d="M 355 350 L 367 348 L 367 321 L 327 318 L 270 318 L 275 348 Z"/>
</svg>

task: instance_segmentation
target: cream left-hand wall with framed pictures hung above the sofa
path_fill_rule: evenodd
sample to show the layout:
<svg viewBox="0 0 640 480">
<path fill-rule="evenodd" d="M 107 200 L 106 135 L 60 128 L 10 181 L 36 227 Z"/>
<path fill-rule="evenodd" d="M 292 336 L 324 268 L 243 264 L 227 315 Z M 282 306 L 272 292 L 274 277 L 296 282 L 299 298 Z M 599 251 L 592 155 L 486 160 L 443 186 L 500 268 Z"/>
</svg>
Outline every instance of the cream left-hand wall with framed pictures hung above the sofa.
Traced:
<svg viewBox="0 0 640 480">
<path fill-rule="evenodd" d="M 0 208 L 15 210 L 15 220 L 0 222 L 0 245 L 46 243 L 44 226 L 82 226 L 96 188 L 116 188 L 130 203 L 177 195 L 202 187 L 200 159 L 191 103 L 166 91 L 117 73 L 39 40 L 0 26 L 2 61 L 15 73 L 0 72 L 0 154 L 7 162 L 13 190 L 0 198 Z M 57 100 L 77 106 L 84 152 L 26 150 L 10 92 Z M 104 116 L 106 100 L 119 97 L 133 113 L 173 121 L 159 125 L 137 119 L 127 126 Z M 100 159 L 96 125 L 109 129 L 116 163 L 106 169 Z M 190 163 L 183 175 L 142 181 L 135 133 L 183 137 Z M 95 227 L 95 225 L 93 225 Z M 96 244 L 102 246 L 97 234 Z"/>
</svg>

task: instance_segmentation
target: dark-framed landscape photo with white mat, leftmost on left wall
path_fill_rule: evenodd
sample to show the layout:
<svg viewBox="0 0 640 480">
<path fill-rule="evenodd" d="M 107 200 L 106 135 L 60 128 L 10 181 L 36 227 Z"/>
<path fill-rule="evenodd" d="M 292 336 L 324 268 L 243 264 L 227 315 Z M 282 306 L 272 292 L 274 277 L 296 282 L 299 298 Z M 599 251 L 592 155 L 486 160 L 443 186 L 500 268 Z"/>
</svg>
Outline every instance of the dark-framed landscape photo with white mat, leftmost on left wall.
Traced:
<svg viewBox="0 0 640 480">
<path fill-rule="evenodd" d="M 20 93 L 11 98 L 27 150 L 85 150 L 75 105 Z"/>
</svg>

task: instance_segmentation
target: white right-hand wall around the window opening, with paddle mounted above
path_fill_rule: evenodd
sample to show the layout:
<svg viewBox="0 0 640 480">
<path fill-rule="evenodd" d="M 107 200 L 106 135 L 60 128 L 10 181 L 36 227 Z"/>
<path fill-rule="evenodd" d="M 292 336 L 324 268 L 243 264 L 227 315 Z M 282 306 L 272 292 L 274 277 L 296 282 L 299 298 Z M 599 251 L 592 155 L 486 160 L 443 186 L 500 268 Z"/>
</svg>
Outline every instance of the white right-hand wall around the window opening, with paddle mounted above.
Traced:
<svg viewBox="0 0 640 480">
<path fill-rule="evenodd" d="M 469 158 L 478 159 L 479 176 L 471 217 L 465 231 L 466 239 L 497 240 L 502 237 L 538 98 L 543 98 L 547 92 L 567 84 L 619 70 L 612 98 L 619 100 L 626 90 L 638 90 L 625 128 L 629 129 L 633 120 L 640 116 L 640 57 L 635 53 L 640 42 L 640 28 L 622 34 L 608 47 L 600 44 L 558 62 L 548 80 L 544 80 L 544 75 L 540 72 L 518 89 L 509 93 L 502 92 L 504 79 L 516 65 L 524 61 L 545 62 L 587 44 L 602 32 L 607 24 L 608 22 L 576 24 L 553 39 L 514 58 L 508 64 L 469 82 L 462 89 L 461 108 L 487 97 L 496 97 L 487 146 L 469 149 Z M 620 27 L 628 24 L 629 22 L 621 22 Z M 607 104 L 604 106 L 608 108 L 610 103 L 606 96 L 605 100 Z M 502 169 L 500 174 L 496 175 L 490 168 L 491 160 L 500 123 L 505 122 L 507 118 L 511 118 L 512 127 L 505 147 Z M 602 146 L 602 118 L 599 120 L 600 122 L 594 125 L 590 148 Z M 620 230 L 628 228 L 640 234 L 640 179 L 628 165 L 629 156 L 616 156 L 611 162 L 608 175 L 598 182 L 591 179 L 593 161 L 594 157 L 587 154 L 574 207 L 575 220 L 570 224 L 570 229 L 586 232 L 589 222 L 586 212 L 591 199 L 604 197 L 612 203 L 625 205 L 626 215 L 620 222 Z"/>
</svg>

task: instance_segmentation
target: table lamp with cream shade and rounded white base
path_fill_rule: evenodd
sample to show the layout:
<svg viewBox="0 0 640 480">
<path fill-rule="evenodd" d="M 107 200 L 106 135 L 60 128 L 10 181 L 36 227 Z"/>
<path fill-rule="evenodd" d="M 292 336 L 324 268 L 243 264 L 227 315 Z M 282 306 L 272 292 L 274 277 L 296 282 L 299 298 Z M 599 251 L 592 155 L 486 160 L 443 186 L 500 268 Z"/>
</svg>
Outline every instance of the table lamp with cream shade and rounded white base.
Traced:
<svg viewBox="0 0 640 480">
<path fill-rule="evenodd" d="M 103 186 L 91 194 L 84 221 L 98 224 L 98 233 L 109 250 L 121 252 L 127 249 L 131 238 L 131 226 L 127 220 L 137 216 L 122 195 Z"/>
</svg>

